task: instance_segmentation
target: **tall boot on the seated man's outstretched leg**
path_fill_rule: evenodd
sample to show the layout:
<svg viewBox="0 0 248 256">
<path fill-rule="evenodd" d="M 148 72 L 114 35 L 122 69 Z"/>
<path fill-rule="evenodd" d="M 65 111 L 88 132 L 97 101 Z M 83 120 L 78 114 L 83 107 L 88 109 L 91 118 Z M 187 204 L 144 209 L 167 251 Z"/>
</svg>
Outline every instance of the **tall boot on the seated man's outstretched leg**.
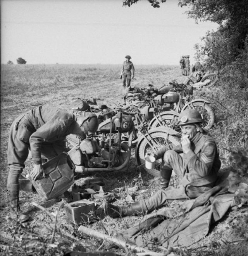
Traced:
<svg viewBox="0 0 248 256">
<path fill-rule="evenodd" d="M 134 202 L 127 206 L 117 206 L 114 204 L 110 204 L 107 201 L 103 204 L 104 212 L 106 215 L 117 218 L 120 216 L 131 216 L 146 213 L 146 206 L 140 202 Z"/>
</svg>

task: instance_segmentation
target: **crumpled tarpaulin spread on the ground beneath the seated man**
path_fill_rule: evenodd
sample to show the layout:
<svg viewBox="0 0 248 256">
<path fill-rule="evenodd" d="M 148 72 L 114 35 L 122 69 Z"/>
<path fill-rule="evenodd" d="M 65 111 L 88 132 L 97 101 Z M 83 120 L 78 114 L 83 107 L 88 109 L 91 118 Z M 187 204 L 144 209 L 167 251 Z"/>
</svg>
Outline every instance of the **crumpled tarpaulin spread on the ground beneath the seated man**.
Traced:
<svg viewBox="0 0 248 256">
<path fill-rule="evenodd" d="M 219 221 L 231 207 L 247 202 L 247 180 L 246 183 L 229 184 L 225 180 L 193 200 L 175 200 L 172 202 L 173 207 L 146 215 L 138 225 L 117 237 L 138 246 L 189 246 L 205 237 L 210 226 Z"/>
</svg>

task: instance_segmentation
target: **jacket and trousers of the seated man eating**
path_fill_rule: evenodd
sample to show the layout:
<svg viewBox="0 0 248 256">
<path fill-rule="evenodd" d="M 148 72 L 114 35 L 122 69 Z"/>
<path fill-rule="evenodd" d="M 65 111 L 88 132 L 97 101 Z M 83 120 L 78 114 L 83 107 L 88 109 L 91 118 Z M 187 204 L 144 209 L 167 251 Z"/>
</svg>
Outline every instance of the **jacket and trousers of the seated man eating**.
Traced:
<svg viewBox="0 0 248 256">
<path fill-rule="evenodd" d="M 181 145 L 165 146 L 155 153 L 156 159 L 162 158 L 161 169 L 165 177 L 169 179 L 173 169 L 180 182 L 177 188 L 161 189 L 141 201 L 143 212 L 165 206 L 167 200 L 198 197 L 214 187 L 221 164 L 214 139 L 198 132 L 191 145 L 193 150 L 183 156 L 180 155 L 183 153 Z"/>
</svg>

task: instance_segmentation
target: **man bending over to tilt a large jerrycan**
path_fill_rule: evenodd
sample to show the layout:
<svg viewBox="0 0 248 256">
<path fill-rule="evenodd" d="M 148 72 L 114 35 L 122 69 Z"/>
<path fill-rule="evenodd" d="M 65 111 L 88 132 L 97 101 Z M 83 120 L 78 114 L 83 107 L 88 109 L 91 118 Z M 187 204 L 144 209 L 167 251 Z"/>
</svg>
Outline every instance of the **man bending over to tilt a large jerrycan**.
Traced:
<svg viewBox="0 0 248 256">
<path fill-rule="evenodd" d="M 64 139 L 69 134 L 84 136 L 95 132 L 98 128 L 96 115 L 84 112 L 82 116 L 74 116 L 58 108 L 36 107 L 17 117 L 10 127 L 8 144 L 9 175 L 7 190 L 10 200 L 10 217 L 19 218 L 21 222 L 28 216 L 20 212 L 19 176 L 25 165 L 29 149 L 31 150 L 34 168 L 31 178 L 36 180 L 43 167 L 41 155 L 47 159 L 58 156 L 65 151 Z"/>
</svg>

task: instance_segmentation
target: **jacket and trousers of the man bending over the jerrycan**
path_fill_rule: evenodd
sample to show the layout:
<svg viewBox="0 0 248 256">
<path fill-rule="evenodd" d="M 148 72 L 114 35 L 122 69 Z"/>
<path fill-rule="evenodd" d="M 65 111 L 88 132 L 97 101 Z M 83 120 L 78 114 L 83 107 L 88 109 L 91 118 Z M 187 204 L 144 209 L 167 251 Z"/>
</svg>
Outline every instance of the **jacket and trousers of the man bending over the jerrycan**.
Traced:
<svg viewBox="0 0 248 256">
<path fill-rule="evenodd" d="M 59 155 L 64 151 L 63 140 L 75 123 L 73 114 L 41 106 L 16 118 L 10 127 L 7 189 L 18 187 L 19 174 L 25 167 L 29 148 L 34 164 L 41 164 L 41 153 L 48 159 Z"/>
</svg>

